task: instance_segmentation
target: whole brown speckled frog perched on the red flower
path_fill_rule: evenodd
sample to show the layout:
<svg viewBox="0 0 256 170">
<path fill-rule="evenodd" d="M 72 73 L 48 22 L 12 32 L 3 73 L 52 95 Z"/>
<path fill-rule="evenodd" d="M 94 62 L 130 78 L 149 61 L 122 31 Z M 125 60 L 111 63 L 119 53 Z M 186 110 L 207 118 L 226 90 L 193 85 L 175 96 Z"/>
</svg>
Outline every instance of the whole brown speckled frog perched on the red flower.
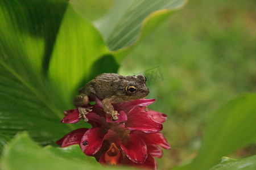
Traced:
<svg viewBox="0 0 256 170">
<path fill-rule="evenodd" d="M 114 110 L 112 104 L 125 103 L 135 99 L 142 99 L 148 95 L 146 78 L 143 75 L 122 76 L 115 73 L 103 73 L 84 87 L 80 88 L 78 96 L 73 100 L 73 104 L 79 109 L 80 118 L 88 121 L 86 114 L 91 111 L 86 107 L 89 101 L 95 101 L 95 96 L 102 100 L 104 112 L 110 114 L 113 120 L 117 120 L 118 112 Z"/>
</svg>

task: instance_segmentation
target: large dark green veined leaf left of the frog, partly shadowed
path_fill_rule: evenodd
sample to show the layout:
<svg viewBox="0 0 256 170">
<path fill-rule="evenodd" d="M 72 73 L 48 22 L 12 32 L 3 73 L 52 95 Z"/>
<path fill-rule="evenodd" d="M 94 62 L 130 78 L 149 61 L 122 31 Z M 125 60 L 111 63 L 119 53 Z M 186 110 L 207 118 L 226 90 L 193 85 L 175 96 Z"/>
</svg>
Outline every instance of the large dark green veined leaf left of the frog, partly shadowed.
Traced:
<svg viewBox="0 0 256 170">
<path fill-rule="evenodd" d="M 0 134 L 27 130 L 47 145 L 75 127 L 60 124 L 72 103 L 61 100 L 43 71 L 66 6 L 66 1 L 0 1 Z"/>
</svg>

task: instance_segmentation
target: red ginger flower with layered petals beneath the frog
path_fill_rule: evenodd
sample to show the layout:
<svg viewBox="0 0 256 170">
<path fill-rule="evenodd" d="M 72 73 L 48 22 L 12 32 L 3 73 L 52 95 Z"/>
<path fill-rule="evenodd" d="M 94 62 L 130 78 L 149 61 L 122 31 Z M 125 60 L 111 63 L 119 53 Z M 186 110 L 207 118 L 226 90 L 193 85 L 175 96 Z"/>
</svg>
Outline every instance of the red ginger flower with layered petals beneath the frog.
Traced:
<svg viewBox="0 0 256 170">
<path fill-rule="evenodd" d="M 104 164 L 132 165 L 140 168 L 157 169 L 154 157 L 161 158 L 162 150 L 170 145 L 160 130 L 166 121 L 166 114 L 145 111 L 145 106 L 154 103 L 155 99 L 138 99 L 122 104 L 113 104 L 120 115 L 113 121 L 103 109 L 101 101 L 96 98 L 92 112 L 87 115 L 92 128 L 80 128 L 71 131 L 57 145 L 66 147 L 78 144 L 81 150 Z M 61 122 L 73 124 L 78 122 L 77 109 L 64 112 Z"/>
</svg>

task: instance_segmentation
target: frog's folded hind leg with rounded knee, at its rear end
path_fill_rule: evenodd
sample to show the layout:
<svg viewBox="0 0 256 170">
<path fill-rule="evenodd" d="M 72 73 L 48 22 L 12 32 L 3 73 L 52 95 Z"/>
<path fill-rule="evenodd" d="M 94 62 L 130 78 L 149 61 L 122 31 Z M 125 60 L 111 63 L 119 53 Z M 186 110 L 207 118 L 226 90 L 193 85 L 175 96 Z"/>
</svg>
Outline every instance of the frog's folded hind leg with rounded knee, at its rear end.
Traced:
<svg viewBox="0 0 256 170">
<path fill-rule="evenodd" d="M 92 112 L 92 107 L 87 107 L 88 103 L 89 97 L 85 94 L 77 95 L 73 100 L 73 104 L 79 111 L 79 118 L 83 118 L 85 122 L 88 122 L 86 114 Z"/>
</svg>

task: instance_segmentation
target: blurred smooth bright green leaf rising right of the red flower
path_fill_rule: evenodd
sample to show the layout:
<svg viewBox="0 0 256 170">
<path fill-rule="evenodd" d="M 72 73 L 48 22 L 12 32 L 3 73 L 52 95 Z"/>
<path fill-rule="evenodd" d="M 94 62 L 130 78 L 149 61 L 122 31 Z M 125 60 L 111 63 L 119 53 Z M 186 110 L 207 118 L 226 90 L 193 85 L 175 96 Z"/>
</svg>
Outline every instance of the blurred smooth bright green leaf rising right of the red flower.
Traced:
<svg viewBox="0 0 256 170">
<path fill-rule="evenodd" d="M 204 129 L 202 146 L 195 160 L 184 168 L 207 169 L 239 148 L 256 141 L 256 94 L 247 94 L 214 112 Z"/>
</svg>

